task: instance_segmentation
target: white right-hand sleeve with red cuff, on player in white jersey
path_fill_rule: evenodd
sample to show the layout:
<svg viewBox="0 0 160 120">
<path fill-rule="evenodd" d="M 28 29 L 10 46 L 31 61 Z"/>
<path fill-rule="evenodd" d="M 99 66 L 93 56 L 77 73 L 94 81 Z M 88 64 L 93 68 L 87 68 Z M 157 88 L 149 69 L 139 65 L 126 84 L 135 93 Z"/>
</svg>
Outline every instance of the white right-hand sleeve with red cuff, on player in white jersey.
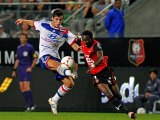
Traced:
<svg viewBox="0 0 160 120">
<path fill-rule="evenodd" d="M 74 35 L 70 31 L 68 31 L 68 38 L 66 39 L 66 41 L 70 46 L 72 46 L 73 43 L 75 43 L 77 41 L 77 37 L 76 37 L 76 35 Z"/>
</svg>

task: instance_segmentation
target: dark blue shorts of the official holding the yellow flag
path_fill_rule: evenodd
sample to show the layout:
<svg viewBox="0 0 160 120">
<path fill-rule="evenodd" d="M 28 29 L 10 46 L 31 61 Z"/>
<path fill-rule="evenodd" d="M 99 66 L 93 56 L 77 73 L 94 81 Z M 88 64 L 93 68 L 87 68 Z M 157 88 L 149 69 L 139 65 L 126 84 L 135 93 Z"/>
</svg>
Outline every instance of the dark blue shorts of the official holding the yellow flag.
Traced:
<svg viewBox="0 0 160 120">
<path fill-rule="evenodd" d="M 22 66 L 20 65 L 17 70 L 18 80 L 20 81 L 30 81 L 31 80 L 31 72 L 26 72 L 26 69 L 30 66 Z"/>
</svg>

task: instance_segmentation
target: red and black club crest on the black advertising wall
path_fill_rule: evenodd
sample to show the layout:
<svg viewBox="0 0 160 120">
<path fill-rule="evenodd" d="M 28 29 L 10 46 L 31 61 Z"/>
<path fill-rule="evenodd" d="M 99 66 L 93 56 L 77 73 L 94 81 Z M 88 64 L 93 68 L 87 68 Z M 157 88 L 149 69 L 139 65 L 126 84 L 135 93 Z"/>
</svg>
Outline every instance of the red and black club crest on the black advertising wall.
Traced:
<svg viewBox="0 0 160 120">
<path fill-rule="evenodd" d="M 129 41 L 128 60 L 135 66 L 143 63 L 145 59 L 144 41 L 143 39 Z"/>
</svg>

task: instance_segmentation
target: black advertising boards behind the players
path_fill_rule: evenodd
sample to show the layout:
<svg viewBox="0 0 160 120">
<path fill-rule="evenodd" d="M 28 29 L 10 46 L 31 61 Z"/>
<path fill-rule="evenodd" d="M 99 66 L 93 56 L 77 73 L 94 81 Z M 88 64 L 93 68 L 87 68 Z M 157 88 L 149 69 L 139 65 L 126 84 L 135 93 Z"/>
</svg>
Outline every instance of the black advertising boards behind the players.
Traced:
<svg viewBox="0 0 160 120">
<path fill-rule="evenodd" d="M 104 53 L 109 56 L 109 65 L 115 70 L 116 79 L 121 88 L 122 84 L 129 83 L 129 78 L 135 78 L 134 86 L 139 84 L 139 93 L 143 93 L 150 67 L 160 66 L 159 48 L 160 38 L 143 38 L 145 49 L 145 60 L 138 67 L 131 64 L 128 60 L 128 48 L 130 39 L 142 38 L 123 38 L 123 39 L 101 39 L 97 38 L 104 48 Z M 38 51 L 38 39 L 29 39 L 29 43 L 33 44 Z M 0 82 L 6 76 L 11 75 L 14 63 L 14 55 L 16 46 L 19 44 L 18 39 L 1 39 L 0 40 Z M 85 73 L 87 70 L 85 60 L 82 54 L 74 52 L 68 44 L 65 44 L 60 49 L 60 54 L 63 56 L 71 55 L 77 63 L 79 63 L 79 77 L 75 80 L 75 87 L 59 102 L 59 111 L 107 111 L 116 112 L 110 103 L 101 103 L 101 93 L 92 86 L 90 76 Z M 51 71 L 42 70 L 39 65 L 34 68 L 32 79 L 32 91 L 34 100 L 38 106 L 38 111 L 49 111 L 47 99 L 52 96 L 60 85 L 54 79 L 54 74 Z M 125 96 L 128 97 L 128 90 L 125 91 Z M 131 96 L 132 98 L 134 97 Z M 125 103 L 129 109 L 136 110 L 133 102 Z M 15 79 L 9 89 L 0 94 L 0 110 L 15 111 L 23 110 L 23 99 L 18 88 L 18 81 Z"/>
</svg>

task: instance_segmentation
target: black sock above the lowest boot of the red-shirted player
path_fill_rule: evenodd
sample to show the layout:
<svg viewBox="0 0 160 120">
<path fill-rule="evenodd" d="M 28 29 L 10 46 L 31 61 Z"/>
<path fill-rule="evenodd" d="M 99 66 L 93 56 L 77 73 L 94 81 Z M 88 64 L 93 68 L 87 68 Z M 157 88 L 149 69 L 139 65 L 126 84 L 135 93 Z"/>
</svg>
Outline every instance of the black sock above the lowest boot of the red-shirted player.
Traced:
<svg viewBox="0 0 160 120">
<path fill-rule="evenodd" d="M 128 109 L 115 97 L 112 97 L 109 100 L 118 110 L 121 110 L 122 112 L 128 114 Z"/>
</svg>

